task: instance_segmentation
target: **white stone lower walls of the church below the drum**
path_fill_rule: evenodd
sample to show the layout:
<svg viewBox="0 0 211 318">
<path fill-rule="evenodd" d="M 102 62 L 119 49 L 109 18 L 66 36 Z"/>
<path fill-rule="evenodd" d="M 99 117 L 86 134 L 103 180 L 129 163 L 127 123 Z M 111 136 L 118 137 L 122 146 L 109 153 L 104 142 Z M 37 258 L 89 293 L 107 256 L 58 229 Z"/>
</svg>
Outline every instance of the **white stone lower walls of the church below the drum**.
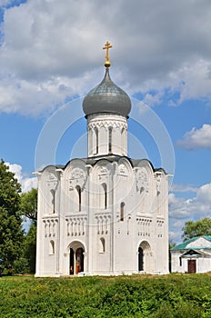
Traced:
<svg viewBox="0 0 211 318">
<path fill-rule="evenodd" d="M 138 273 L 140 244 L 144 270 L 168 273 L 167 201 L 157 204 L 156 176 L 147 160 L 133 167 L 126 158 L 118 162 L 102 159 L 93 166 L 75 159 L 64 172 L 55 172 L 54 178 L 53 172 L 47 167 L 39 176 L 37 276 L 69 274 L 70 247 L 75 244 L 85 250 L 84 266 L 89 274 Z M 167 197 L 166 175 L 159 177 L 165 184 L 160 195 Z M 106 207 L 102 184 L 107 188 Z M 81 187 L 81 211 L 76 208 L 76 185 Z M 52 186 L 56 188 L 55 213 L 46 199 Z M 140 191 L 142 187 L 144 191 Z M 122 202 L 124 221 L 120 221 Z M 105 252 L 101 238 L 105 239 Z M 55 254 L 49 253 L 51 240 L 55 241 Z"/>
</svg>

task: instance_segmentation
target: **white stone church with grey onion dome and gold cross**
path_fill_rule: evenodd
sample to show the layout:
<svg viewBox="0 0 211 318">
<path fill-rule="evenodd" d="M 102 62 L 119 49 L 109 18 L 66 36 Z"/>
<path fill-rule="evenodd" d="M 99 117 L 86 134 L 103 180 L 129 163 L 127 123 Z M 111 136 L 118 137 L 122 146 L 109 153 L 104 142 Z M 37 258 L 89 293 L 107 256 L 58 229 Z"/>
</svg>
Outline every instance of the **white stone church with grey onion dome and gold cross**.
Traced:
<svg viewBox="0 0 211 318">
<path fill-rule="evenodd" d="M 168 177 L 127 156 L 131 100 L 106 72 L 83 101 L 87 157 L 37 172 L 35 276 L 168 273 Z"/>
</svg>

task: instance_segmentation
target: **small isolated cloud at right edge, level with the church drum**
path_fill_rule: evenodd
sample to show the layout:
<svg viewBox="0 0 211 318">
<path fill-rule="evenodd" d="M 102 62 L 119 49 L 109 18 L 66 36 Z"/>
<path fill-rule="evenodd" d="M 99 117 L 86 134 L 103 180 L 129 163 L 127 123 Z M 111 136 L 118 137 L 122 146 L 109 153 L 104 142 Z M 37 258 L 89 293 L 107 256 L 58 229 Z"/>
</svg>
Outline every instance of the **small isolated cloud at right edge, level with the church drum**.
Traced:
<svg viewBox="0 0 211 318">
<path fill-rule="evenodd" d="M 211 148 L 211 124 L 203 124 L 199 129 L 192 128 L 177 144 L 188 150 Z"/>
</svg>

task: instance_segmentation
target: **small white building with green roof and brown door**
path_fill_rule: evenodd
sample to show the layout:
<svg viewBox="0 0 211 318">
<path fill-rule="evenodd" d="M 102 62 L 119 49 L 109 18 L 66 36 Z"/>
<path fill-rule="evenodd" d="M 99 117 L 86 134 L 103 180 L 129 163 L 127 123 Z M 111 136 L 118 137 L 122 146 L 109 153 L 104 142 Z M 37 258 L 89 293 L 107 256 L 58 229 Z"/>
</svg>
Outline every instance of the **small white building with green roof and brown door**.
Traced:
<svg viewBox="0 0 211 318">
<path fill-rule="evenodd" d="M 211 271 L 211 236 L 195 236 L 173 247 L 172 273 L 206 273 Z"/>
</svg>

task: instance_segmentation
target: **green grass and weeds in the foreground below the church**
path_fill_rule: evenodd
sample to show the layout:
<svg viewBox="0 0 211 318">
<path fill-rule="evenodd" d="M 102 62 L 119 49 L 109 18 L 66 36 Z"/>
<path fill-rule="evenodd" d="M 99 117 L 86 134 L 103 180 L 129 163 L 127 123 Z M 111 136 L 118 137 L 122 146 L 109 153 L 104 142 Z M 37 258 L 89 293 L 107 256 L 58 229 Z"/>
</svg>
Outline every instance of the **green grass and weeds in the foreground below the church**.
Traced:
<svg viewBox="0 0 211 318">
<path fill-rule="evenodd" d="M 0 317 L 211 317 L 211 275 L 0 279 Z"/>
</svg>

